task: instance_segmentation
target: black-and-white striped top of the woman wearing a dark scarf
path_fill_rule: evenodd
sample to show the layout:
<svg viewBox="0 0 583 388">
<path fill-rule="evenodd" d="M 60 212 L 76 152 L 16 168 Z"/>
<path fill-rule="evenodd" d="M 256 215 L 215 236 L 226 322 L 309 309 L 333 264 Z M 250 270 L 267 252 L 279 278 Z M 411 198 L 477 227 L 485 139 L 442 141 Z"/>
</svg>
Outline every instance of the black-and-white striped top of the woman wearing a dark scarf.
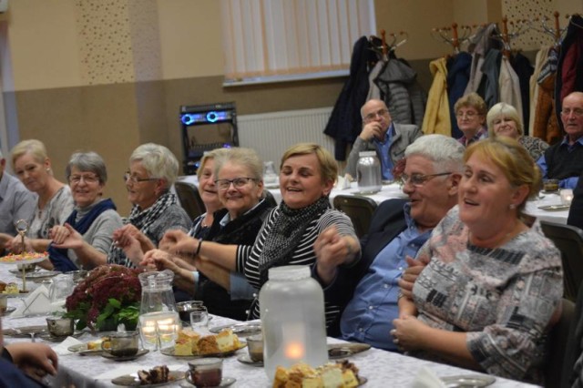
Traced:
<svg viewBox="0 0 583 388">
<path fill-rule="evenodd" d="M 278 217 L 283 217 L 278 206 L 272 209 L 268 214 L 267 219 L 263 222 L 260 234 L 255 240 L 255 244 L 251 246 L 240 245 L 237 248 L 237 271 L 243 272 L 251 286 L 257 290 L 261 289 L 261 273 L 259 271 L 259 256 L 265 240 L 270 238 L 270 231 L 273 223 Z M 353 236 L 358 239 L 354 232 L 353 223 L 344 213 L 335 210 L 327 209 L 322 213 L 320 218 L 313 220 L 303 232 L 302 241 L 293 252 L 292 260 L 284 265 L 310 265 L 313 266 L 316 262 L 316 254 L 313 251 L 313 243 L 318 238 L 323 230 L 330 226 L 335 226 L 338 233 L 342 236 Z M 334 322 L 339 314 L 340 307 L 333 305 L 328 301 L 325 302 L 326 326 L 329 327 Z M 250 319 L 257 319 L 260 317 L 259 301 L 255 299 L 251 304 Z"/>
</svg>

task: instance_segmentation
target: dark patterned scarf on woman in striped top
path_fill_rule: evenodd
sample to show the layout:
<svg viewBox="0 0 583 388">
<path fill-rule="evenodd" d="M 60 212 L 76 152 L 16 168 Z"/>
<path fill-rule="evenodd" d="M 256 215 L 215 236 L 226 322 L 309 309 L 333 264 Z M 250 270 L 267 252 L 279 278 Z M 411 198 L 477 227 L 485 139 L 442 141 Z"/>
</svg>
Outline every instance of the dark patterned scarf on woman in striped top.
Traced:
<svg viewBox="0 0 583 388">
<path fill-rule="evenodd" d="M 273 222 L 259 257 L 261 283 L 267 281 L 267 270 L 292 260 L 295 248 L 302 242 L 302 235 L 313 220 L 330 209 L 330 199 L 322 197 L 302 209 L 291 209 L 281 201 L 280 216 Z"/>
</svg>

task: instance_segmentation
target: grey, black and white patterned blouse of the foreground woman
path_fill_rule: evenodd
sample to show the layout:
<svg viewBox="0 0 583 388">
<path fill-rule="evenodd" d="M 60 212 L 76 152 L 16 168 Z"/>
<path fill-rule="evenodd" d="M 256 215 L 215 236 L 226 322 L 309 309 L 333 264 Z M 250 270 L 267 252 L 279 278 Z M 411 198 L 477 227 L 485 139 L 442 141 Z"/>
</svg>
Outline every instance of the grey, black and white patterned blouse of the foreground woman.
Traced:
<svg viewBox="0 0 583 388">
<path fill-rule="evenodd" d="M 414 283 L 418 318 L 466 332 L 467 349 L 487 373 L 538 383 L 544 334 L 563 294 L 560 253 L 535 230 L 496 249 L 472 245 L 468 233 L 455 206 L 417 254 L 429 262 Z"/>
</svg>

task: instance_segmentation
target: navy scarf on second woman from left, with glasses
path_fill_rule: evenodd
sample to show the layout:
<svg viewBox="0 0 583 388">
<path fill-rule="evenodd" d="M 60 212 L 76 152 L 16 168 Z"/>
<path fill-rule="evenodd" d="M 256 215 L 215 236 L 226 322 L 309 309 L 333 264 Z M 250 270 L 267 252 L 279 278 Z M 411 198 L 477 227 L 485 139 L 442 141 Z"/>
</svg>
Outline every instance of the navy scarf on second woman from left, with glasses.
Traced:
<svg viewBox="0 0 583 388">
<path fill-rule="evenodd" d="M 74 230 L 77 230 L 81 235 L 87 233 L 93 221 L 97 219 L 104 211 L 108 209 L 117 209 L 116 205 L 111 199 L 103 199 L 98 202 L 92 209 L 90 209 L 87 214 L 77 222 L 77 209 L 73 210 L 71 215 L 66 219 L 66 223 L 71 225 Z M 77 265 L 69 259 L 68 251 L 66 249 L 59 249 L 53 246 L 51 242 L 48 245 L 48 257 L 53 263 L 56 271 L 69 272 L 77 271 Z"/>
</svg>

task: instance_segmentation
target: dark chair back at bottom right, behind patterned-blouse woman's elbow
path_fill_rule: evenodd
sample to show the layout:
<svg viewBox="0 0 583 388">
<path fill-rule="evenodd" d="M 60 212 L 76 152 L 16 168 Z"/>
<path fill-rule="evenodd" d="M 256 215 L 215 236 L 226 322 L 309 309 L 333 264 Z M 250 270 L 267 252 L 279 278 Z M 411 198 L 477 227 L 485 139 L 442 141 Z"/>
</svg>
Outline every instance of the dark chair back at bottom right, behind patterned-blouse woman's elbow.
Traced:
<svg viewBox="0 0 583 388">
<path fill-rule="evenodd" d="M 546 361 L 543 367 L 545 375 L 545 387 L 555 388 L 559 386 L 563 372 L 563 363 L 569 339 L 569 327 L 575 318 L 575 303 L 563 298 L 561 301 L 561 314 L 557 323 L 550 328 L 547 336 Z"/>
</svg>

